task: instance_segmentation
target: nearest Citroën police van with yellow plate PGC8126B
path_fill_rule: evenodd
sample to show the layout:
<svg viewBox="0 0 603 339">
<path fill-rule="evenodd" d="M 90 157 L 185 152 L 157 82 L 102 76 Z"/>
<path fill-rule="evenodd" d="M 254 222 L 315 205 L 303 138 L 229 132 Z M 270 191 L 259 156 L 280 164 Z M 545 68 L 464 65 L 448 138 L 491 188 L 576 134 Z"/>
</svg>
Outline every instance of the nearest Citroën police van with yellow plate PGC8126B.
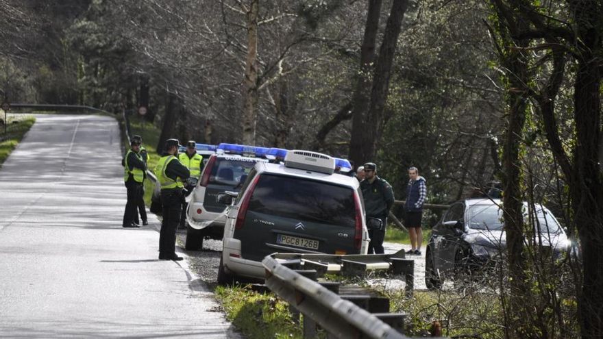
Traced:
<svg viewBox="0 0 603 339">
<path fill-rule="evenodd" d="M 238 277 L 263 279 L 262 259 L 275 252 L 366 254 L 369 237 L 358 180 L 335 169 L 329 155 L 287 151 L 284 163 L 256 163 L 238 194 L 217 194 L 220 203 L 230 205 L 219 284 Z M 380 227 L 380 220 L 369 221 L 371 227 L 376 222 Z"/>
</svg>

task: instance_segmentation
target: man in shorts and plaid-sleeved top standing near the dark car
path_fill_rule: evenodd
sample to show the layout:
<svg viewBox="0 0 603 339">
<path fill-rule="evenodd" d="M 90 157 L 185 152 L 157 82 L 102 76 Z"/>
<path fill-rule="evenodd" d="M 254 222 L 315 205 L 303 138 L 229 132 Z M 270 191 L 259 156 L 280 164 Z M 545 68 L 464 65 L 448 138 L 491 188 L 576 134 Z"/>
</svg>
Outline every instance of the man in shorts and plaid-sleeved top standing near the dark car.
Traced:
<svg viewBox="0 0 603 339">
<path fill-rule="evenodd" d="M 417 167 L 408 168 L 408 187 L 406 188 L 406 227 L 410 234 L 410 245 L 408 254 L 421 254 L 421 243 L 423 242 L 423 231 L 421 230 L 421 218 L 423 217 L 423 203 L 427 197 L 427 185 L 425 178 L 419 176 Z"/>
</svg>

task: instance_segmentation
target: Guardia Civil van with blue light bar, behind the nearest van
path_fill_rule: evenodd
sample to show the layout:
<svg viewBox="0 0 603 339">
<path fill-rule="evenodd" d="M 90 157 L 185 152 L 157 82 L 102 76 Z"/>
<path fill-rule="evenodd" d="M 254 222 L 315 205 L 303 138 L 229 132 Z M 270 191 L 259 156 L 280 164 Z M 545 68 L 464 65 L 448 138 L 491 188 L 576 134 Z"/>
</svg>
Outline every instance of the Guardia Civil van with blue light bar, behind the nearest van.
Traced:
<svg viewBox="0 0 603 339">
<path fill-rule="evenodd" d="M 256 162 L 268 162 L 266 147 L 222 143 L 210 155 L 197 186 L 188 198 L 184 247 L 196 251 L 205 238 L 221 239 L 226 206 L 217 203 L 219 193 L 236 194 Z"/>
</svg>

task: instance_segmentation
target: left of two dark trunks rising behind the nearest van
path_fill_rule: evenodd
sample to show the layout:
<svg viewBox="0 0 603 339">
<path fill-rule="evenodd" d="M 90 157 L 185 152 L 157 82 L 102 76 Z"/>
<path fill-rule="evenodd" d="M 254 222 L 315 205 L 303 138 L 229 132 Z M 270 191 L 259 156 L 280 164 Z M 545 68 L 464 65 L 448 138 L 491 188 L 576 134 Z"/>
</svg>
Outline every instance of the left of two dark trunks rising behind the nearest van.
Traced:
<svg viewBox="0 0 603 339">
<path fill-rule="evenodd" d="M 364 164 L 369 160 L 362 154 L 362 134 L 366 128 L 366 116 L 369 108 L 369 91 L 371 90 L 372 63 L 375 59 L 375 43 L 379 30 L 381 0 L 369 0 L 369 11 L 365 25 L 365 36 L 360 47 L 360 71 L 356 90 L 352 98 L 352 135 L 349 141 L 349 160 L 355 164 Z M 341 111 L 340 111 L 341 112 Z M 326 135 L 326 134 L 325 134 Z"/>
</svg>

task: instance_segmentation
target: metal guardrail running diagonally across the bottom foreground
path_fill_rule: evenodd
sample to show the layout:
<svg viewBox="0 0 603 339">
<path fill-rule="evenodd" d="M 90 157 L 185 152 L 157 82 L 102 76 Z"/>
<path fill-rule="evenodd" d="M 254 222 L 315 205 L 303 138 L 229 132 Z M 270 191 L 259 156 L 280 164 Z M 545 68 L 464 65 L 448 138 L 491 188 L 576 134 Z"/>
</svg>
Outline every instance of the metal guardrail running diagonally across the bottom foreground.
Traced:
<svg viewBox="0 0 603 339">
<path fill-rule="evenodd" d="M 306 260 L 313 262 L 322 258 L 336 262 L 336 258 L 347 258 L 346 255 L 312 255 L 296 253 L 276 253 L 268 255 L 262 260 L 266 268 L 265 284 L 278 297 L 287 301 L 299 312 L 304 314 L 304 338 L 314 337 L 315 333 L 306 331 L 306 321 L 312 326 L 320 325 L 328 332 L 328 338 L 374 338 L 374 339 L 407 339 L 401 331 L 396 331 L 382 321 L 382 319 L 402 318 L 404 314 L 372 314 L 352 302 L 353 298 L 342 298 L 339 294 L 332 292 L 317 281 L 304 277 L 298 272 L 288 268 L 291 260 Z M 365 262 L 378 259 L 373 255 L 350 255 L 350 261 L 365 260 Z M 313 259 L 313 260 L 310 260 Z M 381 257 L 380 257 L 381 258 Z M 284 261 L 288 261 L 285 266 Z M 412 261 L 412 260 L 410 260 Z M 304 267 L 306 268 L 306 267 Z M 403 329 L 403 325 L 399 327 Z"/>
</svg>

